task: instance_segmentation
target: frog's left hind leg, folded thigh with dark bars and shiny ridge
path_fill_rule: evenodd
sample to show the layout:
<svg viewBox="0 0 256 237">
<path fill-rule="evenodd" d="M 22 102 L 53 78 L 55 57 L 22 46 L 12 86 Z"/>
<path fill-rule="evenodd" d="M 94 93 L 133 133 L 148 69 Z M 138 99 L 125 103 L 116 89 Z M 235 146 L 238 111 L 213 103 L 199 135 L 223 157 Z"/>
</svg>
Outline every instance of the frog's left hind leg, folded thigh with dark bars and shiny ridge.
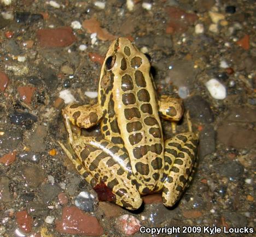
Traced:
<svg viewBox="0 0 256 237">
<path fill-rule="evenodd" d="M 103 182 L 115 195 L 115 203 L 127 209 L 138 209 L 142 199 L 131 173 L 129 157 L 117 145 L 96 137 L 74 140 L 73 150 L 91 177 Z M 81 167 L 78 167 L 78 170 Z"/>
</svg>

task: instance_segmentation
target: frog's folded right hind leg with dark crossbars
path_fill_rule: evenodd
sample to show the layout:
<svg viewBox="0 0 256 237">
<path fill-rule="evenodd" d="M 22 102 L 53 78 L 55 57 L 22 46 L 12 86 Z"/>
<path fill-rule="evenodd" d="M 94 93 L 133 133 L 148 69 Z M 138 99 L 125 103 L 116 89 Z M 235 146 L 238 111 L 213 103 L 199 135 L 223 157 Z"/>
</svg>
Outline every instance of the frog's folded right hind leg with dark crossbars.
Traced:
<svg viewBox="0 0 256 237">
<path fill-rule="evenodd" d="M 196 160 L 197 135 L 180 133 L 165 141 L 165 176 L 162 202 L 173 206 L 181 197 Z"/>
</svg>

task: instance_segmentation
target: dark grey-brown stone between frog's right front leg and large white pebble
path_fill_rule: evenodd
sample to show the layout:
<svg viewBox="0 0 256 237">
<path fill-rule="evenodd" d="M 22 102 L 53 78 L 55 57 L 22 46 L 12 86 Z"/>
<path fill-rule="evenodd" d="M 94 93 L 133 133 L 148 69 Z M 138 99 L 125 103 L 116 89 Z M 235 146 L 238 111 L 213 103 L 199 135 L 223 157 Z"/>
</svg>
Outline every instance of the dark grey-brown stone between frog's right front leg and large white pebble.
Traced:
<svg viewBox="0 0 256 237">
<path fill-rule="evenodd" d="M 193 96 L 184 100 L 185 109 L 189 111 L 190 117 L 197 122 L 211 123 L 214 121 L 214 115 L 210 104 L 201 96 Z"/>
</svg>

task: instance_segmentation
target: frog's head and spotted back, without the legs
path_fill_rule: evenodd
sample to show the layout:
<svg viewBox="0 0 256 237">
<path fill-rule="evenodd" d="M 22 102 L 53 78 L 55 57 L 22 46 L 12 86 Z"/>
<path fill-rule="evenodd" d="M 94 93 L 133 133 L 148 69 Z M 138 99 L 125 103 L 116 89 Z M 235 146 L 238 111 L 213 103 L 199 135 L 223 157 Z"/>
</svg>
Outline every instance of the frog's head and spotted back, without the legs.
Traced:
<svg viewBox="0 0 256 237">
<path fill-rule="evenodd" d="M 139 192 L 149 193 L 158 189 L 164 165 L 150 63 L 128 39 L 119 38 L 110 46 L 104 64 L 98 90 L 105 114 L 102 131 L 106 139 L 127 150 Z"/>
</svg>

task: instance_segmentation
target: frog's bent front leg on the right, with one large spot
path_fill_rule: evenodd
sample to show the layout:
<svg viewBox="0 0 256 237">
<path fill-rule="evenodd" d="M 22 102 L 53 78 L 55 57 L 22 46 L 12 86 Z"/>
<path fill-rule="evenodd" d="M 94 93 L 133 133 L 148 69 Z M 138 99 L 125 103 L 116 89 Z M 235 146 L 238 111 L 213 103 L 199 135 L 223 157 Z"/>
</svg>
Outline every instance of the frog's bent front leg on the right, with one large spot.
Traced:
<svg viewBox="0 0 256 237">
<path fill-rule="evenodd" d="M 179 121 L 184 109 L 181 99 L 170 96 L 161 96 L 158 102 L 159 115 L 165 120 Z"/>
</svg>

